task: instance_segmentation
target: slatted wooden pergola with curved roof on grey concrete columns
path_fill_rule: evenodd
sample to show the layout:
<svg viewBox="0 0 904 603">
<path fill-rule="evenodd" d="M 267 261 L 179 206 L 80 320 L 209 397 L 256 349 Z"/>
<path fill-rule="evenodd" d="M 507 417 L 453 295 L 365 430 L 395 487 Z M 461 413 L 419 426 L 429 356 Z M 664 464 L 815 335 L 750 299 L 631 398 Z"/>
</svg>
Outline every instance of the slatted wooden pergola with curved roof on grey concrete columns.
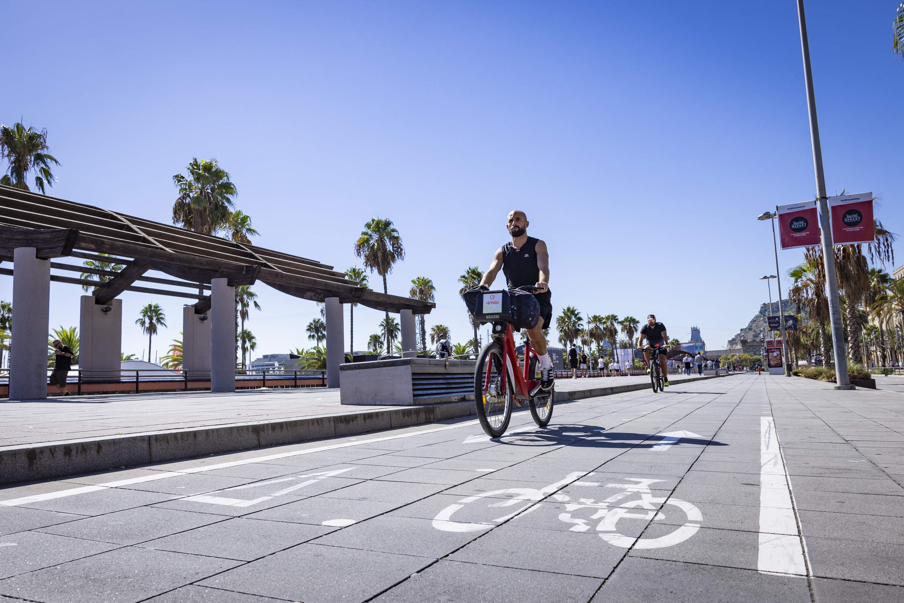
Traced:
<svg viewBox="0 0 904 603">
<path fill-rule="evenodd" d="M 66 257 L 111 262 L 124 268 L 112 271 L 51 261 Z M 206 315 L 212 313 L 211 324 L 205 325 L 205 328 L 210 327 L 206 345 L 212 347 L 207 353 L 209 369 L 206 370 L 211 372 L 212 382 L 220 384 L 212 386 L 214 391 L 234 390 L 234 358 L 229 360 L 234 345 L 229 341 L 234 342 L 235 337 L 233 287 L 260 281 L 293 297 L 325 302 L 327 382 L 336 387 L 339 364 L 344 359 L 342 304 L 361 304 L 399 313 L 403 355 L 416 354 L 414 315 L 428 314 L 435 307 L 433 303 L 362 287 L 345 278 L 343 272 L 314 259 L 6 186 L 0 186 L 0 261 L 3 260 L 14 261 L 14 268 L 0 268 L 0 275 L 14 279 L 13 337 L 16 349 L 13 359 L 16 355 L 21 356 L 16 372 L 24 371 L 24 365 L 30 367 L 30 376 L 10 375 L 11 397 L 14 396 L 14 385 L 20 379 L 27 382 L 27 387 L 23 386 L 21 391 L 29 394 L 37 394 L 46 386 L 46 368 L 39 366 L 39 361 L 45 358 L 46 352 L 50 281 L 93 287 L 90 297 L 82 297 L 83 323 L 94 320 L 86 318 L 86 312 L 90 313 L 92 308 L 102 307 L 105 314 L 109 312 L 108 305 L 125 291 L 193 299 L 192 316 L 200 315 L 203 323 Z M 52 273 L 52 269 L 88 273 L 108 280 L 65 276 Z M 147 276 L 151 270 L 172 278 Z M 137 283 L 190 290 L 145 287 Z M 90 305 L 87 310 L 86 303 Z M 43 314 L 38 311 L 41 308 Z M 187 330 L 194 323 L 186 316 L 184 336 L 187 340 Z M 119 321 L 117 345 L 121 340 L 121 317 Z M 105 328 L 108 327 L 109 324 Z M 84 325 L 81 332 L 86 335 Z M 189 345 L 187 341 L 185 345 Z M 106 358 L 104 363 L 113 363 L 112 356 Z M 41 388 L 38 387 L 39 380 Z"/>
</svg>

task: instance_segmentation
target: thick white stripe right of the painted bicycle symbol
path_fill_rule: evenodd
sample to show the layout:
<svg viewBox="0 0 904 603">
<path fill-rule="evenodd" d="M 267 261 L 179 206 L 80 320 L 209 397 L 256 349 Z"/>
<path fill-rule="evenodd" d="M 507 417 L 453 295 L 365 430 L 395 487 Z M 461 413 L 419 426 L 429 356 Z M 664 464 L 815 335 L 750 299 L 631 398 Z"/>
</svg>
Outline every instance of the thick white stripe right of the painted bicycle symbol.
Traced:
<svg viewBox="0 0 904 603">
<path fill-rule="evenodd" d="M 757 569 L 762 573 L 805 576 L 804 547 L 772 417 L 759 418 L 759 461 Z"/>
</svg>

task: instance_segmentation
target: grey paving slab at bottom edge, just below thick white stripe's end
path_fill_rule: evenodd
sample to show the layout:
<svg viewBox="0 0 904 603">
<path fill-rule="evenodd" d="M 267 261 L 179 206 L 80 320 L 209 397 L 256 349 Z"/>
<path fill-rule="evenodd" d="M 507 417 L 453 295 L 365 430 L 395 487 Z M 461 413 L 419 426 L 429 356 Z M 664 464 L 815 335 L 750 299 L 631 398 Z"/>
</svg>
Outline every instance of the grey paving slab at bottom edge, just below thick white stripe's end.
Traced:
<svg viewBox="0 0 904 603">
<path fill-rule="evenodd" d="M 650 579 L 652 576 L 655 579 Z M 593 603 L 809 603 L 811 598 L 803 578 L 629 557 L 592 600 Z"/>
</svg>

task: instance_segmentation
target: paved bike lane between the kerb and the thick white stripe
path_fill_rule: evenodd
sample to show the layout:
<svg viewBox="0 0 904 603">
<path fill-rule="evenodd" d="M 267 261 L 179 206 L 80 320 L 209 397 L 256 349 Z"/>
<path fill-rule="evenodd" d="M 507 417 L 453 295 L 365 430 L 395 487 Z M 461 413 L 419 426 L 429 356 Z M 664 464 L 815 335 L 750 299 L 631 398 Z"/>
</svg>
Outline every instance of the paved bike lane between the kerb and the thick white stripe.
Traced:
<svg viewBox="0 0 904 603">
<path fill-rule="evenodd" d="M 464 421 L 164 464 L 114 482 L 89 476 L 80 481 L 94 484 L 70 485 L 106 485 L 68 496 L 25 500 L 22 488 L 0 512 L 31 513 L 16 520 L 28 532 L 0 540 L 65 540 L 19 537 L 14 546 L 45 561 L 0 580 L 0 593 L 96 580 L 111 560 L 145 564 L 147 592 L 168 592 L 160 600 L 203 589 L 305 601 L 604 600 L 638 572 L 716 572 L 796 600 L 805 579 L 758 571 L 764 403 L 753 381 L 572 402 L 545 430 L 520 413 L 501 440 Z M 68 544 L 73 561 L 42 553 Z"/>
</svg>

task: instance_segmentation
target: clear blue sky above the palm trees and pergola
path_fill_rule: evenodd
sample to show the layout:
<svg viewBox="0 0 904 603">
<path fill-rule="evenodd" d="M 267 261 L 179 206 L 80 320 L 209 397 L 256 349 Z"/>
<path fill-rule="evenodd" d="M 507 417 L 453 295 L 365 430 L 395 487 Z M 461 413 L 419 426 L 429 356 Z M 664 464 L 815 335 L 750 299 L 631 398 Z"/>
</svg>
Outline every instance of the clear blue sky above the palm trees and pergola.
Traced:
<svg viewBox="0 0 904 603">
<path fill-rule="evenodd" d="M 807 19 L 829 193 L 880 195 L 877 217 L 900 233 L 897 5 L 811 0 Z M 454 341 L 470 332 L 456 279 L 488 266 L 517 207 L 550 248 L 556 313 L 653 312 L 722 347 L 775 272 L 756 216 L 815 196 L 793 0 L 7 2 L 4 15 L 22 26 L 0 53 L 22 58 L 0 122 L 47 128 L 53 195 L 168 222 L 173 174 L 217 157 L 254 242 L 337 269 L 360 265 L 365 221 L 391 218 L 407 257 L 390 292 L 432 278 L 428 325 Z M 781 253 L 783 272 L 801 255 Z M 254 355 L 309 345 L 316 306 L 255 290 Z M 78 325 L 80 294 L 52 285 L 52 325 Z M 124 352 L 146 349 L 133 321 L 148 301 L 169 318 L 155 351 L 178 337 L 183 300 L 123 299 Z M 356 349 L 381 317 L 355 311 Z"/>
</svg>

